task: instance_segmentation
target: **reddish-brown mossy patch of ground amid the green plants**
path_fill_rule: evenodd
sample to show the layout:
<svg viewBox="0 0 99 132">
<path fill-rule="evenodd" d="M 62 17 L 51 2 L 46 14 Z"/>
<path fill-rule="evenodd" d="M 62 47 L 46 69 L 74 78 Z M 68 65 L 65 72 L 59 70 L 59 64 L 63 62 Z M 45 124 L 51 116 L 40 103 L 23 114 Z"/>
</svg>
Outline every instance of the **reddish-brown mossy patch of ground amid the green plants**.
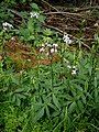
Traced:
<svg viewBox="0 0 99 132">
<path fill-rule="evenodd" d="M 6 43 L 4 52 L 7 57 L 10 57 L 15 64 L 16 70 L 38 65 L 51 65 L 52 63 L 59 61 L 59 56 L 57 54 L 53 53 L 51 55 L 46 55 L 46 52 L 41 53 L 38 48 L 23 44 L 16 36 Z"/>
</svg>

